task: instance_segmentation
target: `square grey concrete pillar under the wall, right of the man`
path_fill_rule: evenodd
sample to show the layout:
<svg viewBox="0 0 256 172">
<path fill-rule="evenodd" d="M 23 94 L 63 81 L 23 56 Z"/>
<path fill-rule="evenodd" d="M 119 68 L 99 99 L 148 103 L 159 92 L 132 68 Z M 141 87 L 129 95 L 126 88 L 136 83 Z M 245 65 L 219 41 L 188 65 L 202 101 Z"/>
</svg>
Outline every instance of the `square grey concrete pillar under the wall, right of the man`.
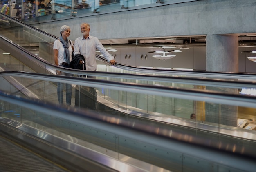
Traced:
<svg viewBox="0 0 256 172">
<path fill-rule="evenodd" d="M 238 35 L 207 35 L 206 71 L 238 72 Z M 206 89 L 238 93 L 233 88 L 207 86 Z M 205 121 L 237 126 L 237 106 L 205 102 Z"/>
</svg>

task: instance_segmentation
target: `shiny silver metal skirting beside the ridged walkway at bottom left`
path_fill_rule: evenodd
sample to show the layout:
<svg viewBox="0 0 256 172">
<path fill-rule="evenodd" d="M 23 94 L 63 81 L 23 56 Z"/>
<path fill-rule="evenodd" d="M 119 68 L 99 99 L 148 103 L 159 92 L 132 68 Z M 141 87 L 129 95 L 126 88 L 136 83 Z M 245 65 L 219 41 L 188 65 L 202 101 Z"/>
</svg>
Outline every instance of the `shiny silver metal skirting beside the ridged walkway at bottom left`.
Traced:
<svg viewBox="0 0 256 172">
<path fill-rule="evenodd" d="M 13 129 L 3 124 L 8 124 Z M 159 168 L 154 165 L 151 165 L 136 159 L 132 159 L 131 157 L 124 156 L 122 154 L 120 154 L 120 157 L 119 157 L 120 159 L 122 159 L 121 161 L 119 159 L 115 159 L 103 153 L 96 152 L 90 148 L 86 148 L 81 144 L 78 144 L 78 141 L 76 141 L 77 143 L 70 141 L 70 140 L 77 140 L 76 138 L 72 138 L 72 136 L 65 136 L 65 138 L 68 138 L 68 140 L 66 140 L 66 139 L 51 135 L 47 132 L 38 130 L 36 128 L 32 128 L 25 124 L 19 123 L 17 121 L 13 121 L 11 119 L 5 119 L 0 117 L 0 130 L 2 130 L 2 132 L 6 132 L 6 133 L 8 132 L 8 135 L 22 139 L 22 141 L 25 144 L 26 143 L 28 145 L 32 144 L 38 149 L 43 149 L 44 152 L 46 152 L 46 154 L 49 154 L 49 155 L 52 154 L 52 156 L 54 156 L 54 159 L 61 159 L 61 161 L 65 163 L 70 163 L 70 165 L 67 165 L 68 167 L 79 166 L 78 169 L 80 169 L 81 171 L 95 170 L 95 169 L 93 170 L 93 168 L 91 167 L 90 168 L 88 167 L 89 164 L 93 166 L 92 163 L 90 163 L 90 161 L 96 162 L 99 166 L 103 165 L 108 167 L 109 169 L 105 169 L 106 171 L 115 171 L 115 170 L 120 172 L 149 172 L 151 170 L 161 171 L 161 172 L 169 171 L 169 170 L 165 170 L 163 168 Z M 29 137 L 27 135 L 29 135 Z M 47 147 L 47 145 L 49 144 L 51 146 Z M 63 157 L 64 152 L 66 152 L 65 157 Z M 85 160 L 85 159 L 88 159 L 88 160 Z M 133 165 L 130 165 L 129 163 L 127 163 L 126 162 L 127 160 L 130 163 L 133 163 Z M 13 164 L 13 162 L 11 163 Z M 139 167 L 136 167 L 136 164 Z M 102 167 L 102 169 L 104 168 Z"/>
</svg>

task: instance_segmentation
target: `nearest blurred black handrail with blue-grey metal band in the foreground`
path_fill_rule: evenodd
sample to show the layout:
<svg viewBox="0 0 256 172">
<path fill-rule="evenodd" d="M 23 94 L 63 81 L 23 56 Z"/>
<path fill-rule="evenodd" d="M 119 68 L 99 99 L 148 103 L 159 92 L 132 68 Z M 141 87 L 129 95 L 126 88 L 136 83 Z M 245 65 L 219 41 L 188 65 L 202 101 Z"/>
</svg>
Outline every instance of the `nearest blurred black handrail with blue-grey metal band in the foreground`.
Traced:
<svg viewBox="0 0 256 172">
<path fill-rule="evenodd" d="M 186 155 L 204 159 L 210 162 L 227 165 L 237 169 L 255 169 L 256 155 L 252 150 L 240 148 L 236 144 L 209 142 L 208 139 L 197 135 L 175 132 L 160 126 L 150 126 L 136 119 L 120 119 L 110 115 L 97 114 L 92 111 L 61 108 L 42 101 L 32 101 L 0 91 L 0 99 L 18 104 L 23 107 L 51 114 L 53 117 L 79 123 L 97 130 L 115 133 L 117 135 L 157 145 L 166 150 L 182 152 Z M 199 144 L 200 143 L 200 144 Z M 252 153 L 253 152 L 253 153 Z M 210 156 L 209 156 L 210 155 Z M 238 161 L 239 163 L 234 163 Z"/>
</svg>

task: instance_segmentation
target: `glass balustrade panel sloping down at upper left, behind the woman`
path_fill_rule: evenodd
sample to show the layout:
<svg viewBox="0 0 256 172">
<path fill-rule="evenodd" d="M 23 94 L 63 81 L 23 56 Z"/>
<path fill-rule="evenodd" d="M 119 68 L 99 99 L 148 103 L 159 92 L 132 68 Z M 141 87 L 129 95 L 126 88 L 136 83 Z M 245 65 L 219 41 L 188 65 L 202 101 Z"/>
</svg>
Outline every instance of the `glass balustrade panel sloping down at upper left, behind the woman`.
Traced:
<svg viewBox="0 0 256 172">
<path fill-rule="evenodd" d="M 54 41 L 57 39 L 56 37 L 44 34 L 45 32 L 43 31 L 12 20 L 11 18 L 1 17 L 0 20 L 4 21 L 0 27 L 0 35 L 2 37 L 11 41 L 13 44 L 17 44 L 20 48 L 27 50 L 33 55 L 38 56 L 42 60 L 54 64 L 52 47 Z M 1 48 L 7 51 L 6 53 L 15 53 L 8 51 L 8 47 L 2 46 Z"/>
</svg>

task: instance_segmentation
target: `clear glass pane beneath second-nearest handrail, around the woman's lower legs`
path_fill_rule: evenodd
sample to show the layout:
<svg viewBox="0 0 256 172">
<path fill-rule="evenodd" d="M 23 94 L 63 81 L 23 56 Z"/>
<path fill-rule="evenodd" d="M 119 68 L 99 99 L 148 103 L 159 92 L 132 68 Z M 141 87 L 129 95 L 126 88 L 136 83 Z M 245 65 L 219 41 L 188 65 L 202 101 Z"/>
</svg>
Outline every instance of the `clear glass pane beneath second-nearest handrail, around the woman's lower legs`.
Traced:
<svg viewBox="0 0 256 172">
<path fill-rule="evenodd" d="M 58 104 L 57 83 L 32 79 L 26 77 L 4 77 L 1 90 L 11 92 L 22 97 L 32 97 L 43 101 Z M 128 79 L 127 79 L 128 80 Z M 86 82 L 86 79 L 85 79 Z M 130 82 L 130 80 L 128 80 Z M 139 83 L 143 84 L 143 83 Z M 146 83 L 148 84 L 148 83 Z M 164 84 L 164 83 L 158 83 Z M 156 85 L 156 84 L 155 84 Z M 176 84 L 179 88 L 179 84 Z M 161 86 L 160 86 L 161 88 Z M 188 86 L 187 88 L 191 88 Z M 63 90 L 63 102 L 65 105 L 65 90 Z M 198 101 L 193 99 L 184 99 L 172 97 L 169 95 L 155 95 L 152 93 L 130 92 L 125 90 L 105 88 L 105 86 L 92 87 L 72 84 L 71 107 L 79 109 L 88 109 L 95 112 L 104 112 L 110 115 L 119 114 L 127 116 L 129 114 L 150 117 L 152 119 L 177 119 L 195 121 L 197 123 L 207 123 L 209 125 L 237 127 L 238 119 L 247 119 L 248 124 L 255 121 L 255 108 L 234 106 L 229 104 L 218 104 L 208 101 Z M 191 119 L 191 114 L 195 113 L 195 119 Z M 249 128 L 254 130 L 254 127 Z"/>
</svg>

